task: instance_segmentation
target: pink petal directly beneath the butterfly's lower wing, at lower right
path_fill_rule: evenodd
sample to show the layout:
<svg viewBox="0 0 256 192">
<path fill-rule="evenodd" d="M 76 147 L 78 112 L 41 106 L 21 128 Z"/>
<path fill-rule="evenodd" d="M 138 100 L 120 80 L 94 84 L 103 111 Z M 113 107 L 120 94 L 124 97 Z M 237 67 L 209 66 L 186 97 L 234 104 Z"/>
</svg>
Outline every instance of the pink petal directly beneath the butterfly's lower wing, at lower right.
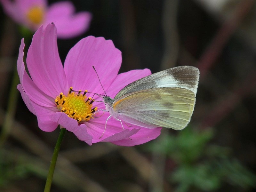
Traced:
<svg viewBox="0 0 256 192">
<path fill-rule="evenodd" d="M 134 145 L 140 145 L 143 143 L 146 143 L 150 140 L 156 139 L 160 133 L 161 133 L 162 127 L 157 127 L 155 129 L 147 129 L 144 127 L 141 127 L 140 131 L 136 134 L 132 135 L 131 139 L 124 139 L 124 140 L 118 140 L 111 142 L 115 145 L 121 145 L 121 146 L 134 146 Z"/>
</svg>

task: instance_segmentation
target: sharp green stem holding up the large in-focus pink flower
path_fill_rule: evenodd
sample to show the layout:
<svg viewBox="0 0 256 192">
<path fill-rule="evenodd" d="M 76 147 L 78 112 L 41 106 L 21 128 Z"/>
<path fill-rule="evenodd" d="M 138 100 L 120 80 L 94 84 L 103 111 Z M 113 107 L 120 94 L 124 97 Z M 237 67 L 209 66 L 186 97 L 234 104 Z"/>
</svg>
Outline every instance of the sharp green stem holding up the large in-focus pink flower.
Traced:
<svg viewBox="0 0 256 192">
<path fill-rule="evenodd" d="M 49 172 L 48 172 L 48 175 L 47 175 L 47 179 L 46 179 L 46 183 L 45 183 L 45 187 L 44 187 L 44 192 L 50 192 L 51 185 L 52 185 L 52 177 L 53 177 L 53 173 L 54 173 L 54 170 L 55 170 L 55 165 L 56 165 L 56 162 L 57 162 L 58 154 L 59 154 L 59 151 L 60 151 L 60 144 L 62 142 L 62 139 L 63 139 L 64 134 L 66 133 L 66 131 L 67 130 L 65 128 L 60 129 L 60 135 L 59 135 L 59 138 L 56 142 L 56 146 L 55 146 L 54 151 L 53 151 L 52 161 L 51 161 Z"/>
</svg>

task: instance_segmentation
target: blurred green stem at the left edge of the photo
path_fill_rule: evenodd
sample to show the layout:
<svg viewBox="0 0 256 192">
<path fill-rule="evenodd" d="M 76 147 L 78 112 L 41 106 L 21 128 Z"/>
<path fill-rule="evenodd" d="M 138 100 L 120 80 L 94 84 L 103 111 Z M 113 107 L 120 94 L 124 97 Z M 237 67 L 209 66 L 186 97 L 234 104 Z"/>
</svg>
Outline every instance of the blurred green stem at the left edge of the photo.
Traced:
<svg viewBox="0 0 256 192">
<path fill-rule="evenodd" d="M 0 148 L 4 145 L 5 140 L 7 139 L 9 133 L 11 132 L 13 119 L 16 113 L 16 106 L 18 100 L 18 89 L 17 85 L 19 83 L 19 76 L 17 68 L 15 67 L 14 73 L 12 76 L 11 90 L 9 93 L 9 100 L 7 103 L 6 115 L 4 118 L 3 127 L 0 133 Z"/>
</svg>

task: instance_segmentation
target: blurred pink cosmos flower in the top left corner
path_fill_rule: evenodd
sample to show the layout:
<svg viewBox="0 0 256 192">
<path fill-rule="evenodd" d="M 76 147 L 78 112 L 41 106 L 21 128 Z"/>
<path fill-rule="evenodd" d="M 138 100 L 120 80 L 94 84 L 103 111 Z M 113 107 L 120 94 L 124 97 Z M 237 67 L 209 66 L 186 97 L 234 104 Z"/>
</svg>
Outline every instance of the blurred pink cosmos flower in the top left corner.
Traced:
<svg viewBox="0 0 256 192">
<path fill-rule="evenodd" d="M 13 20 L 36 31 L 42 24 L 55 23 L 58 38 L 71 38 L 84 33 L 92 15 L 89 12 L 75 14 L 75 7 L 69 1 L 47 6 L 46 0 L 0 0 L 4 11 Z"/>
</svg>

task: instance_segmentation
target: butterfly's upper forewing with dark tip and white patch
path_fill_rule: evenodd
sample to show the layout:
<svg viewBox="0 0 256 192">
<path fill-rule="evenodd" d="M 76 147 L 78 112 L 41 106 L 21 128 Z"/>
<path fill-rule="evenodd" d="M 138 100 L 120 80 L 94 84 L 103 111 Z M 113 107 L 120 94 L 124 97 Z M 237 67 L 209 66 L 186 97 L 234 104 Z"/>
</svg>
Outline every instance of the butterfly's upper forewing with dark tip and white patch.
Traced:
<svg viewBox="0 0 256 192">
<path fill-rule="evenodd" d="M 198 80 L 199 70 L 196 67 L 174 67 L 143 77 L 126 85 L 117 93 L 114 99 L 116 100 L 128 93 L 160 87 L 180 87 L 188 89 L 196 95 Z"/>
</svg>

